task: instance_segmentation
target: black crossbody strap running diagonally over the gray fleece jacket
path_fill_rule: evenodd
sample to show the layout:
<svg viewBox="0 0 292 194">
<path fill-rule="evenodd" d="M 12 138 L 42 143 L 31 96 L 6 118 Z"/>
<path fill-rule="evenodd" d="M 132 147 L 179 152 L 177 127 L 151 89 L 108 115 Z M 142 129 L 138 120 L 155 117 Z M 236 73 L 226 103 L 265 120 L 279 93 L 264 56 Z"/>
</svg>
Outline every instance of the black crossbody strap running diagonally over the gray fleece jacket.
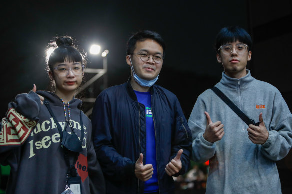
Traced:
<svg viewBox="0 0 292 194">
<path fill-rule="evenodd" d="M 259 122 L 255 123 L 254 120 L 249 119 L 249 117 L 247 117 L 219 88 L 214 86 L 211 90 L 213 90 L 247 125 L 259 125 Z"/>
</svg>

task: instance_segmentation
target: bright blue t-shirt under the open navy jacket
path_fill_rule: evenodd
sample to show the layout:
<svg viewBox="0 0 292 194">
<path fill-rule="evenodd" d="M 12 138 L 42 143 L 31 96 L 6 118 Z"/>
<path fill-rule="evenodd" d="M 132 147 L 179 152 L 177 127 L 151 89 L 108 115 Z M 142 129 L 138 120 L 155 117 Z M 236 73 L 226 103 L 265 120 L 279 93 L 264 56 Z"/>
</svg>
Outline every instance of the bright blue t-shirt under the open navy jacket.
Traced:
<svg viewBox="0 0 292 194">
<path fill-rule="evenodd" d="M 159 191 L 159 186 L 156 160 L 155 128 L 151 110 L 151 93 L 138 91 L 135 91 L 135 93 L 138 102 L 145 105 L 146 108 L 146 156 L 144 157 L 146 157 L 146 164 L 152 164 L 154 169 L 154 174 L 152 175 L 151 179 L 145 181 L 144 193 L 157 192 Z"/>
</svg>

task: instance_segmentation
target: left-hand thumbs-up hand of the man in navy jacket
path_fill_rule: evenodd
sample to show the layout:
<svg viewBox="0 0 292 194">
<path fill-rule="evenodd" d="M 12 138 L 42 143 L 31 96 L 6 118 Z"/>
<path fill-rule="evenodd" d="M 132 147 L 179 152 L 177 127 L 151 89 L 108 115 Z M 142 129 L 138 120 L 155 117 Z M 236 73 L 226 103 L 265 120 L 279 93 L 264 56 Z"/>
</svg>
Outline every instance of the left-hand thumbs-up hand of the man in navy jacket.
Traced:
<svg viewBox="0 0 292 194">
<path fill-rule="evenodd" d="M 138 179 L 142 181 L 147 181 L 152 177 L 154 169 L 153 165 L 151 164 L 143 165 L 143 158 L 143 154 L 140 153 L 140 157 L 136 162 L 135 175 Z"/>
</svg>

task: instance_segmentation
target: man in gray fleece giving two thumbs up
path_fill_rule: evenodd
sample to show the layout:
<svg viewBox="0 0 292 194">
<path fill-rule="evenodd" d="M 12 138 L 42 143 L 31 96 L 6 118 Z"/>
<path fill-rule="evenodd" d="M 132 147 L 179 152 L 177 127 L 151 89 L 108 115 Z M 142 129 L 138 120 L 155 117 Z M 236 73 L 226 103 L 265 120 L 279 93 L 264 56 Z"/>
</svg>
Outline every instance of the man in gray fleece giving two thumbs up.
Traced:
<svg viewBox="0 0 292 194">
<path fill-rule="evenodd" d="M 188 121 L 192 159 L 210 160 L 207 194 L 281 194 L 275 161 L 292 146 L 292 114 L 274 86 L 246 69 L 251 44 L 240 27 L 220 30 L 215 47 L 224 72 L 215 86 L 259 126 L 245 124 L 211 89 L 198 97 Z"/>
</svg>

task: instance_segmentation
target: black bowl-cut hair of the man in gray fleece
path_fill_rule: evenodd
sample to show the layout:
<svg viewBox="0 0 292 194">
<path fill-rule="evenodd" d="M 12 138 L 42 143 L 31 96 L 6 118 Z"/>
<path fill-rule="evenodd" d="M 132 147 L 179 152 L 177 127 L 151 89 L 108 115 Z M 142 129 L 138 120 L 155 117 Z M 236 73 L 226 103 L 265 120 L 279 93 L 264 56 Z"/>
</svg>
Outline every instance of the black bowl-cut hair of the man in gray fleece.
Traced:
<svg viewBox="0 0 292 194">
<path fill-rule="evenodd" d="M 228 43 L 228 42 L 242 42 L 248 45 L 248 51 L 251 50 L 252 47 L 252 39 L 251 36 L 245 31 L 245 29 L 239 26 L 229 26 L 222 28 L 216 36 L 215 49 L 216 52 L 219 53 L 220 46 Z"/>
</svg>

